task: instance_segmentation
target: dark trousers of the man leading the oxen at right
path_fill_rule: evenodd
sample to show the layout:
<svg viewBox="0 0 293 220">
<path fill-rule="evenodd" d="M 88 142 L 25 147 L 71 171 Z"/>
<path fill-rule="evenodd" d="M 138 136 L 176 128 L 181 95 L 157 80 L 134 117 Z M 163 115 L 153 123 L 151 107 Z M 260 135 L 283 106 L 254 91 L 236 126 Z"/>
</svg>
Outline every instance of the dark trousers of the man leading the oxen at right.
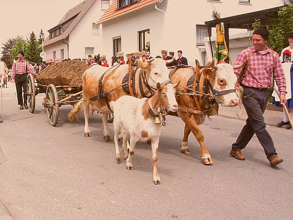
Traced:
<svg viewBox="0 0 293 220">
<path fill-rule="evenodd" d="M 232 150 L 241 151 L 251 140 L 255 133 L 260 144 L 263 146 L 267 158 L 276 156 L 272 137 L 266 130 L 266 123 L 263 113 L 268 103 L 268 90 L 258 90 L 244 88 L 242 94 L 243 105 L 248 115 L 246 125 L 243 127 L 235 143 L 232 144 Z"/>
</svg>

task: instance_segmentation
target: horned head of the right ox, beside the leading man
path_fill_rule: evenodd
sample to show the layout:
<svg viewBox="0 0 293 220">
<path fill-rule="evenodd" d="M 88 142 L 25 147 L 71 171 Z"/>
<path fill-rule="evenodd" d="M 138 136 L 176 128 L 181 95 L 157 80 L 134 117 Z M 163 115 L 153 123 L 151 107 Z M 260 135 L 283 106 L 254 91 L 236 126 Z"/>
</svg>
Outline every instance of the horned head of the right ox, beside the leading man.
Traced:
<svg viewBox="0 0 293 220">
<path fill-rule="evenodd" d="M 223 106 L 234 107 L 239 103 L 239 97 L 235 92 L 235 83 L 237 77 L 233 69 L 242 68 L 242 65 L 232 66 L 221 62 L 217 64 L 217 60 L 214 58 L 210 63 L 210 67 L 214 68 L 210 70 L 209 68 L 202 69 L 202 73 L 205 74 L 210 81 L 210 84 L 214 91 L 217 91 L 215 99 Z M 215 93 L 215 92 L 213 92 Z"/>
</svg>

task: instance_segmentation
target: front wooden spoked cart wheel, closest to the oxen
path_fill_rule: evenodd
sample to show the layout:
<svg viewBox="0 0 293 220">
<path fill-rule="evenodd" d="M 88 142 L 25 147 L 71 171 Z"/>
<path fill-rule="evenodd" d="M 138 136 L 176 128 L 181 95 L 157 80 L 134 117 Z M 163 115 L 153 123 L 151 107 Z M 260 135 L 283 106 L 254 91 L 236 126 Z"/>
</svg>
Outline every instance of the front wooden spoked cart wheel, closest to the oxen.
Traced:
<svg viewBox="0 0 293 220">
<path fill-rule="evenodd" d="M 58 103 L 57 90 L 53 84 L 50 84 L 46 90 L 46 111 L 49 118 L 49 123 L 52 126 L 56 126 L 59 115 L 59 103 Z"/>
</svg>

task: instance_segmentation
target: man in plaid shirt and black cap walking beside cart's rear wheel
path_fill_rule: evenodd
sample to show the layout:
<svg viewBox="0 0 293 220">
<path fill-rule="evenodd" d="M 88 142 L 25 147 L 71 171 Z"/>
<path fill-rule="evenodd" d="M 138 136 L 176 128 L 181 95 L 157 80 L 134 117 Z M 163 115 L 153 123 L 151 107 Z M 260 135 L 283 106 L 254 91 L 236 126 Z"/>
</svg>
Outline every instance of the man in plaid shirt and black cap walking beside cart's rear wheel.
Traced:
<svg viewBox="0 0 293 220">
<path fill-rule="evenodd" d="M 11 82 L 16 86 L 17 92 L 17 100 L 18 104 L 21 106 L 20 109 L 27 109 L 28 106 L 26 104 L 26 73 L 30 72 L 33 75 L 37 75 L 35 71 L 31 68 L 30 64 L 23 59 L 24 53 L 23 51 L 19 51 L 17 54 L 18 60 L 13 63 L 11 70 Z M 23 99 L 22 99 L 22 89 L 23 89 Z"/>
</svg>

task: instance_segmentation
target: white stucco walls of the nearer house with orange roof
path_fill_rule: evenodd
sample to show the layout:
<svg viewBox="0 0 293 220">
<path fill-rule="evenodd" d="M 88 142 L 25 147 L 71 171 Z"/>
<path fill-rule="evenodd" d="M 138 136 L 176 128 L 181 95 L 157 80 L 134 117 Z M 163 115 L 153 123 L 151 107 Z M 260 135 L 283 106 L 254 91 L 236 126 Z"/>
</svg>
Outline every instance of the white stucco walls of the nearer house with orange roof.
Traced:
<svg viewBox="0 0 293 220">
<path fill-rule="evenodd" d="M 211 12 L 215 7 L 221 18 L 280 6 L 281 1 L 251 0 L 251 4 L 239 3 L 238 0 L 164 0 L 158 8 L 154 6 L 129 14 L 103 24 L 103 50 L 107 59 L 113 55 L 113 38 L 121 36 L 122 52 L 125 54 L 138 50 L 138 31 L 150 30 L 150 50 L 152 56 L 161 55 L 161 49 L 176 51 L 181 49 L 188 64 L 193 65 L 200 59 L 199 47 L 196 46 L 196 24 L 212 20 Z M 233 10 L 231 10 L 231 8 Z M 230 29 L 230 34 L 246 30 Z M 214 29 L 212 30 L 214 35 Z"/>
</svg>

